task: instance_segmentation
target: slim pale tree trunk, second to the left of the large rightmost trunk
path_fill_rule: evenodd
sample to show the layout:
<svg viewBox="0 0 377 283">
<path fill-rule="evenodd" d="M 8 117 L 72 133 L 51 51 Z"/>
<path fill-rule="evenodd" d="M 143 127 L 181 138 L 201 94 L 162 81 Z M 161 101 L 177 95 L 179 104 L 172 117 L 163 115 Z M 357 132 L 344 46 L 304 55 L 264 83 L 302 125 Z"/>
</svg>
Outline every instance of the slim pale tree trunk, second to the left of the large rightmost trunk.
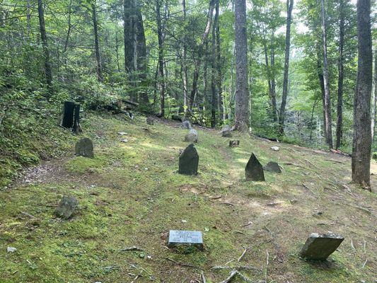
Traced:
<svg viewBox="0 0 377 283">
<path fill-rule="evenodd" d="M 331 120 L 331 101 L 330 101 L 330 81 L 327 66 L 327 41 L 326 41 L 326 18 L 325 18 L 325 0 L 320 1 L 320 11 L 322 18 L 322 37 L 323 37 L 323 80 L 325 86 L 325 138 L 326 143 L 332 149 L 332 120 Z"/>
</svg>

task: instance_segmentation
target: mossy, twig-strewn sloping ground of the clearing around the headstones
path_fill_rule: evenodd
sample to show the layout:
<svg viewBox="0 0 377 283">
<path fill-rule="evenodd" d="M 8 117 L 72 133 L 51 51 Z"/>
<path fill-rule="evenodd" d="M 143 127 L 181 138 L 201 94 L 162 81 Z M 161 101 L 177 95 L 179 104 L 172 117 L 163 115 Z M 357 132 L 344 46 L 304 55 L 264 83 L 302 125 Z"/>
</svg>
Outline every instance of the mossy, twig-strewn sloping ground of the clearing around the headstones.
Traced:
<svg viewBox="0 0 377 283">
<path fill-rule="evenodd" d="M 179 175 L 187 130 L 177 126 L 88 115 L 95 158 L 74 156 L 72 141 L 65 156 L 0 190 L 0 282 L 189 283 L 203 273 L 217 283 L 236 269 L 251 282 L 376 282 L 375 161 L 371 193 L 350 183 L 347 156 L 237 133 L 240 147 L 230 148 L 218 132 L 196 128 L 199 175 Z M 282 173 L 246 182 L 251 152 Z M 68 221 L 54 216 L 63 195 L 79 200 Z M 168 249 L 170 229 L 202 231 L 204 250 Z M 298 257 L 310 233 L 328 231 L 345 240 L 327 262 Z M 122 251 L 131 246 L 144 251 Z"/>
</svg>

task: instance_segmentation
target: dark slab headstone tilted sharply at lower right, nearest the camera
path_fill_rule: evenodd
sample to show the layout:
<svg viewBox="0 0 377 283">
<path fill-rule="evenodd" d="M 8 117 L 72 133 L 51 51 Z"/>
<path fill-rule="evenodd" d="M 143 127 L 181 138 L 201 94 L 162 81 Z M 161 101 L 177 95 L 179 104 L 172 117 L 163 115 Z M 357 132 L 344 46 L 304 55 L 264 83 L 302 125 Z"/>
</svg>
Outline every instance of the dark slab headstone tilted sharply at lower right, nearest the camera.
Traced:
<svg viewBox="0 0 377 283">
<path fill-rule="evenodd" d="M 344 241 L 344 238 L 334 233 L 318 234 L 312 233 L 306 240 L 300 256 L 308 260 L 325 260 Z"/>
</svg>

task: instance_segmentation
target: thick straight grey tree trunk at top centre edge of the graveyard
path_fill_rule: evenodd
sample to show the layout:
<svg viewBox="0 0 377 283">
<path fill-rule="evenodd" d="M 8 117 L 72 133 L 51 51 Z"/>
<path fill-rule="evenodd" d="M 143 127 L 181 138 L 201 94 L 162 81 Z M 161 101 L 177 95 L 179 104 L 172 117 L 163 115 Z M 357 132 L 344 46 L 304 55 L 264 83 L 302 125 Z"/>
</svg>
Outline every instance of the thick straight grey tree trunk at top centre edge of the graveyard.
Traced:
<svg viewBox="0 0 377 283">
<path fill-rule="evenodd" d="M 248 40 L 246 35 L 246 1 L 235 3 L 236 16 L 236 129 L 249 127 Z"/>
</svg>

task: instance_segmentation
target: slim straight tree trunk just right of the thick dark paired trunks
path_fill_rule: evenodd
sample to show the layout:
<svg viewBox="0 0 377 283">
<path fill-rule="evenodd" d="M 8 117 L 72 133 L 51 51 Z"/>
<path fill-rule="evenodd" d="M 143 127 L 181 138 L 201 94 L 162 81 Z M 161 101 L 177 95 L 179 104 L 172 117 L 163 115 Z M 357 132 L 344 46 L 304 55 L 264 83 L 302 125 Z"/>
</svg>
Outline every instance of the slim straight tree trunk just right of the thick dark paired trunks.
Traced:
<svg viewBox="0 0 377 283">
<path fill-rule="evenodd" d="M 161 78 L 160 89 L 160 112 L 159 116 L 165 116 L 165 76 L 163 64 L 163 27 L 161 23 L 161 0 L 156 0 L 156 22 L 157 22 L 157 37 L 158 37 L 158 68 Z"/>
</svg>

